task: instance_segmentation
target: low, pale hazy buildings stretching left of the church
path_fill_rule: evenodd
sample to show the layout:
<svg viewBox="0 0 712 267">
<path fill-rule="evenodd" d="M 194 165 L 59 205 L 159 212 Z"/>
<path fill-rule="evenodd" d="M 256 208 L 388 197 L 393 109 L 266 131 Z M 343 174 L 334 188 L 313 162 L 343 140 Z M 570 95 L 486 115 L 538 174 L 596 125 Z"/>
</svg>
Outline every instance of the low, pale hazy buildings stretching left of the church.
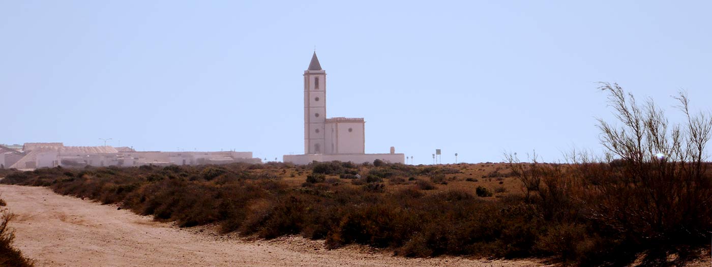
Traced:
<svg viewBox="0 0 712 267">
<path fill-rule="evenodd" d="M 197 164 L 227 164 L 233 162 L 261 163 L 252 152 L 159 152 L 135 151 L 130 147 L 69 147 L 63 143 L 25 143 L 0 145 L 0 167 L 36 169 L 42 167 L 132 167 L 141 165 L 167 166 Z"/>
</svg>

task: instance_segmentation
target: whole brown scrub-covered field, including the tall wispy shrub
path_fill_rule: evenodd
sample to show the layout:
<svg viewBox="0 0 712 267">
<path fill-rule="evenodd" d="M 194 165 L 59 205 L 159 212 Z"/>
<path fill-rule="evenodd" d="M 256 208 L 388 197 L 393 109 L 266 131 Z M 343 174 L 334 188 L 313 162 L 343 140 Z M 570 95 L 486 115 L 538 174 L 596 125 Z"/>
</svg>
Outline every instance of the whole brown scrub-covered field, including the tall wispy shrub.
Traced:
<svg viewBox="0 0 712 267">
<path fill-rule="evenodd" d="M 709 248 L 712 172 L 707 114 L 670 125 L 648 101 L 602 84 L 619 122 L 600 120 L 608 153 L 567 163 L 412 166 L 372 162 L 37 169 L 5 184 L 118 204 L 180 226 L 329 248 L 365 244 L 407 257 L 541 257 L 579 266 L 676 265 Z M 621 126 L 614 126 L 621 125 Z"/>
</svg>

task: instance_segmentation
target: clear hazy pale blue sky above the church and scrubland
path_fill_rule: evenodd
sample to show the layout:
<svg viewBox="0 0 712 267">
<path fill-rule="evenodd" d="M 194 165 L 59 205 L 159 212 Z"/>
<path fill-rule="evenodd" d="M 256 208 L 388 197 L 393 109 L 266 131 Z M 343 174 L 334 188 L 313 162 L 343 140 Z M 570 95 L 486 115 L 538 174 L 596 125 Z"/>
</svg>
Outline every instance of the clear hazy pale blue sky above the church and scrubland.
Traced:
<svg viewBox="0 0 712 267">
<path fill-rule="evenodd" d="M 598 81 L 712 100 L 709 1 L 0 0 L 0 143 L 303 153 L 316 46 L 328 117 L 415 163 L 600 150 Z"/>
</svg>

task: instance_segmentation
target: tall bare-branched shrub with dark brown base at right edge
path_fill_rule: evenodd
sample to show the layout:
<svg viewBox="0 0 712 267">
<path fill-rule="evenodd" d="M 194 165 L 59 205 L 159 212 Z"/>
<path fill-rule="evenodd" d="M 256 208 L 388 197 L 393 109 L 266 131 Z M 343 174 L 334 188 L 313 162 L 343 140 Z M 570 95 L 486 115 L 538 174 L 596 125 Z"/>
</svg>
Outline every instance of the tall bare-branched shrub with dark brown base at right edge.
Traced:
<svg viewBox="0 0 712 267">
<path fill-rule="evenodd" d="M 689 98 L 679 93 L 686 121 L 671 124 L 653 100 L 641 105 L 617 84 L 600 89 L 621 125 L 598 120 L 607 164 L 575 162 L 590 218 L 637 248 L 705 244 L 712 231 L 712 178 L 705 163 L 710 114 L 693 114 Z"/>
</svg>

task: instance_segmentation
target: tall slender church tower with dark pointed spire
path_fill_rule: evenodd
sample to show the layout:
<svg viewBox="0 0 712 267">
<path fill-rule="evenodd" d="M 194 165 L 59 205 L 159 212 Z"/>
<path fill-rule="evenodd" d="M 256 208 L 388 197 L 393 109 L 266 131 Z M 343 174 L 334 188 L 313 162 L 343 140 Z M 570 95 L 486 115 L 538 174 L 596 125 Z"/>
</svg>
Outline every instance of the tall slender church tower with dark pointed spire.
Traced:
<svg viewBox="0 0 712 267">
<path fill-rule="evenodd" d="M 325 147 L 326 71 L 316 52 L 304 70 L 304 154 L 323 154 Z"/>
</svg>

